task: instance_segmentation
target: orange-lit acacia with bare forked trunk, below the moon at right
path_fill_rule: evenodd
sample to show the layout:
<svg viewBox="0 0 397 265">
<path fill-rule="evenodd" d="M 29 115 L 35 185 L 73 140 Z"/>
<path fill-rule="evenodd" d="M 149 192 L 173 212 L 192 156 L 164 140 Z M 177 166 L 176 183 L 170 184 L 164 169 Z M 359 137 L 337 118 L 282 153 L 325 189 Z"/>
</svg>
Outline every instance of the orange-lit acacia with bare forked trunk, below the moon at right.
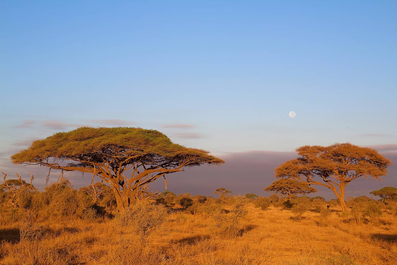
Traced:
<svg viewBox="0 0 397 265">
<path fill-rule="evenodd" d="M 330 146 L 304 145 L 296 149 L 299 157 L 276 168 L 276 178 L 291 178 L 313 185 L 321 185 L 335 193 L 343 211 L 345 187 L 352 180 L 372 176 L 380 180 L 387 174 L 389 159 L 375 149 L 351 143 Z"/>
</svg>

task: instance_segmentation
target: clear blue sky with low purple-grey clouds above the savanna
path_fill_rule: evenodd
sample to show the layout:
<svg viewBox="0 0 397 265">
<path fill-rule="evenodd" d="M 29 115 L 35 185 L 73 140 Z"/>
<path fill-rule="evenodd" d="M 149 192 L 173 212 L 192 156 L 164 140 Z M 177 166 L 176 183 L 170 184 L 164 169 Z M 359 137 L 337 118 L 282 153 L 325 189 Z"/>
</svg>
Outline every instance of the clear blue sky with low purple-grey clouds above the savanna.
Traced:
<svg viewBox="0 0 397 265">
<path fill-rule="evenodd" d="M 198 174 L 263 192 L 301 145 L 376 146 L 397 162 L 396 1 L 1 1 L 0 36 L 9 174 L 33 170 L 9 157 L 34 139 L 83 125 L 156 129 L 246 167 L 257 158 L 249 174 L 231 162 L 178 173 L 181 192 L 219 188 L 189 185 Z M 46 170 L 34 170 L 42 187 Z M 367 188 L 396 186 L 394 170 Z"/>
</svg>

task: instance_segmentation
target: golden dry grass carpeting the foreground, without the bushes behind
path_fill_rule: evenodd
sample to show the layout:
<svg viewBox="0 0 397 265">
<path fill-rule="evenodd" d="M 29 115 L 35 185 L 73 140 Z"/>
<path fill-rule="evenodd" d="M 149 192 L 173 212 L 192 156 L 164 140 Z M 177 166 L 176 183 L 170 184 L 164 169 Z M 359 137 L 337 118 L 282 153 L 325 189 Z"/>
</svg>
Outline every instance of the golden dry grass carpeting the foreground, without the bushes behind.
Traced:
<svg viewBox="0 0 397 265">
<path fill-rule="evenodd" d="M 230 214 L 230 213 L 229 213 Z M 225 237 L 212 217 L 172 213 L 142 248 L 137 235 L 113 220 L 41 221 L 44 234 L 19 241 L 19 224 L 0 226 L 4 265 L 256 265 L 397 264 L 397 220 L 385 213 L 374 224 L 348 222 L 333 209 L 328 219 L 307 212 L 248 207 L 238 236 Z"/>
</svg>

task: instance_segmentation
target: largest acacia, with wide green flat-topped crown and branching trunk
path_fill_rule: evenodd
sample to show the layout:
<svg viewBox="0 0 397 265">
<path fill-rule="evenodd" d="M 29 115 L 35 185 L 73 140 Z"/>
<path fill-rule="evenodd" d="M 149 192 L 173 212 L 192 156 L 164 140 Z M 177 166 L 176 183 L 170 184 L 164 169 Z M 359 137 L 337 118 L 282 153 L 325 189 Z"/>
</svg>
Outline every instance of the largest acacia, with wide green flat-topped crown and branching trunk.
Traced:
<svg viewBox="0 0 397 265">
<path fill-rule="evenodd" d="M 12 155 L 11 161 L 99 176 L 112 186 L 119 211 L 133 203 L 130 198 L 134 200 L 141 187 L 157 178 L 165 179 L 166 174 L 188 166 L 224 163 L 208 151 L 172 143 L 156 130 L 130 127 L 81 127 L 55 133 L 34 141 Z"/>
</svg>

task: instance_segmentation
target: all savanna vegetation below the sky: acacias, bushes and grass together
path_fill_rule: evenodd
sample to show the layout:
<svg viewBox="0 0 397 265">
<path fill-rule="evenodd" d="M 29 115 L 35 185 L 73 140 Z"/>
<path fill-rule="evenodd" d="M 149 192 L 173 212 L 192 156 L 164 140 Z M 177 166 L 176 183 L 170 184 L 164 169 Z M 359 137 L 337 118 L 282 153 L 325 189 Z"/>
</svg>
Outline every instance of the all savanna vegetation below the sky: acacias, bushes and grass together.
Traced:
<svg viewBox="0 0 397 265">
<path fill-rule="evenodd" d="M 303 146 L 275 170 L 261 197 L 153 192 L 157 178 L 225 161 L 141 128 L 81 127 L 37 140 L 14 164 L 60 170 L 38 191 L 21 179 L 0 187 L 0 264 L 254 265 L 396 264 L 396 189 L 348 198 L 356 178 L 381 179 L 391 164 L 350 143 Z M 92 174 L 75 190 L 63 172 Z M 48 176 L 50 172 L 48 172 Z M 47 176 L 47 181 L 48 181 Z M 94 178 L 101 182 L 94 184 Z M 308 197 L 325 186 L 337 199 Z M 298 197 L 300 195 L 300 197 Z M 369 194 L 368 194 L 369 195 Z"/>
</svg>

